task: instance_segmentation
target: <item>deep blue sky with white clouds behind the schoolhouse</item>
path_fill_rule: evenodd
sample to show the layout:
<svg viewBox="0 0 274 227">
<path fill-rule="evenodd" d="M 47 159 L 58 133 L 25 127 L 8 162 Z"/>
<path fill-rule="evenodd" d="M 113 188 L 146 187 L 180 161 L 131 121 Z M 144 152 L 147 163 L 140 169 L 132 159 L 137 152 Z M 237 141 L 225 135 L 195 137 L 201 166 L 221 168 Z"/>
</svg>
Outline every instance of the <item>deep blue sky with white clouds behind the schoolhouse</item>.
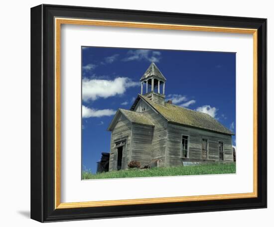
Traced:
<svg viewBox="0 0 274 227">
<path fill-rule="evenodd" d="M 95 173 L 101 152 L 110 151 L 107 128 L 118 108 L 131 108 L 151 62 L 166 78 L 167 100 L 235 132 L 236 53 L 82 47 L 83 169 Z"/>
</svg>

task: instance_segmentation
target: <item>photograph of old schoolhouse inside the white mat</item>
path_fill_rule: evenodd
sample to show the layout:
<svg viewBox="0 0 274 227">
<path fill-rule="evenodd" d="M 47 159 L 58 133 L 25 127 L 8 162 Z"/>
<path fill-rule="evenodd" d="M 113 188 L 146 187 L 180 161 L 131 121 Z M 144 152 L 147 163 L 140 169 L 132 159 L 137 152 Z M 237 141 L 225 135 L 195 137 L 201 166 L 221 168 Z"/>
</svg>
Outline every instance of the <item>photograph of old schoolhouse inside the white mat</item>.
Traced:
<svg viewBox="0 0 274 227">
<path fill-rule="evenodd" d="M 82 180 L 236 174 L 236 53 L 82 46 Z"/>
</svg>

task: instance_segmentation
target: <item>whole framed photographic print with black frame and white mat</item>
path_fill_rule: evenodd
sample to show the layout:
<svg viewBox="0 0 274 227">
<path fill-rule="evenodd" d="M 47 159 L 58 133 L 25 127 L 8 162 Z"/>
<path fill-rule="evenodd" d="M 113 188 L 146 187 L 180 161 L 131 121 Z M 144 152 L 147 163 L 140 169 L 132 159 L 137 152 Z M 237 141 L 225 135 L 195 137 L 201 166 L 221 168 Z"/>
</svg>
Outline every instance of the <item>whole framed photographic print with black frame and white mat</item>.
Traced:
<svg viewBox="0 0 274 227">
<path fill-rule="evenodd" d="M 31 218 L 267 207 L 267 20 L 31 8 Z"/>
</svg>

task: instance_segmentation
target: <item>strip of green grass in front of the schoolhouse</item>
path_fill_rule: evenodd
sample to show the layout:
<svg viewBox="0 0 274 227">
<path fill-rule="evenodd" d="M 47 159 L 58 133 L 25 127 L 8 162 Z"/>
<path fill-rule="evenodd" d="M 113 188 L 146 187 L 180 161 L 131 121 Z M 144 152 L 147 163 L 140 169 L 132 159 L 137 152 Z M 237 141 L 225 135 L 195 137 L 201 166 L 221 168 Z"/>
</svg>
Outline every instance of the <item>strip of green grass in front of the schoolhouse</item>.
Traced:
<svg viewBox="0 0 274 227">
<path fill-rule="evenodd" d="M 225 174 L 235 173 L 235 163 L 203 164 L 196 166 L 161 167 L 147 170 L 129 169 L 110 171 L 105 173 L 92 174 L 90 171 L 83 171 L 82 179 L 108 179 L 108 178 L 132 178 L 132 177 L 162 177 L 162 176 L 184 176 L 201 174 Z"/>
</svg>

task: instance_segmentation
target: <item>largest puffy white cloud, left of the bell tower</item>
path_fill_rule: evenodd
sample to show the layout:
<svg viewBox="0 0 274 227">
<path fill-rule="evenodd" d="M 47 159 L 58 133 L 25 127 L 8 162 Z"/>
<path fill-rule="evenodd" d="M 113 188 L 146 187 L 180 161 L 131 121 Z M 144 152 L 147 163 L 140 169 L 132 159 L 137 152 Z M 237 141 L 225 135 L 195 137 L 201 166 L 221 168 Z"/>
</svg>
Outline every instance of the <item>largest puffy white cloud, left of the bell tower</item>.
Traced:
<svg viewBox="0 0 274 227">
<path fill-rule="evenodd" d="M 116 95 L 123 95 L 127 88 L 139 86 L 127 77 L 117 77 L 114 80 L 83 79 L 82 98 L 83 101 L 108 98 Z"/>
</svg>

